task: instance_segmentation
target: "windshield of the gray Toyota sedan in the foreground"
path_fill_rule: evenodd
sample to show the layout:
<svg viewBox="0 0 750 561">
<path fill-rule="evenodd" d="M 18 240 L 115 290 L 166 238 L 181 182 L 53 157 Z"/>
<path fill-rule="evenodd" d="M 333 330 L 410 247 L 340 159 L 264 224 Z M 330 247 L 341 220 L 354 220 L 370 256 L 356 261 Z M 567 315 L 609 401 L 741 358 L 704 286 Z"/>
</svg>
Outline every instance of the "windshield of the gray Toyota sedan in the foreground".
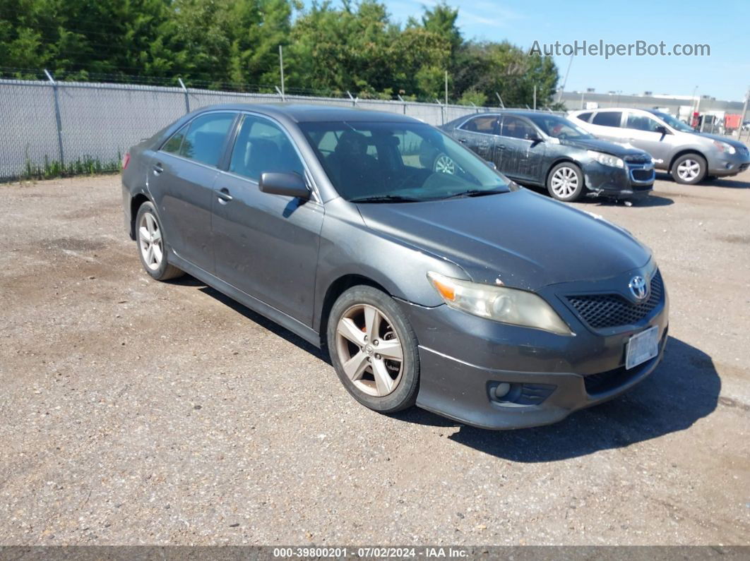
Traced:
<svg viewBox="0 0 750 561">
<path fill-rule="evenodd" d="M 446 134 L 422 123 L 299 124 L 347 201 L 428 201 L 508 192 L 509 181 Z"/>
</svg>

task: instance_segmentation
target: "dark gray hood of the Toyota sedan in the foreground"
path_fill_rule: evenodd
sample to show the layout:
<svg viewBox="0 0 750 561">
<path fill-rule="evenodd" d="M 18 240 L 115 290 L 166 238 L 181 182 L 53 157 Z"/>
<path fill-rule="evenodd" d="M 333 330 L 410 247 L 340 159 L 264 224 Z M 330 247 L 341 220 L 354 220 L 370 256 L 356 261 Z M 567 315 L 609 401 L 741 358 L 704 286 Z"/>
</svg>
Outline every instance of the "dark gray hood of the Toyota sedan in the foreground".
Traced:
<svg viewBox="0 0 750 561">
<path fill-rule="evenodd" d="M 622 228 L 527 189 L 358 207 L 368 228 L 458 264 L 474 282 L 536 290 L 607 279 L 651 256 Z"/>
</svg>

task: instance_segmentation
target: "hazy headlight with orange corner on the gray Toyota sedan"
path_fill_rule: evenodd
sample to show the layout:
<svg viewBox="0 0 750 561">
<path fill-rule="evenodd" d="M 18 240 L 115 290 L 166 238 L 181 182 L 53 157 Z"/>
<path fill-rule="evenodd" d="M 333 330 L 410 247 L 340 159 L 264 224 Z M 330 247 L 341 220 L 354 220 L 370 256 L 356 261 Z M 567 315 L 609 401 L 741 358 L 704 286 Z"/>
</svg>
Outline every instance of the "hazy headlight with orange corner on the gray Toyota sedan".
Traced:
<svg viewBox="0 0 750 561">
<path fill-rule="evenodd" d="M 480 285 L 428 273 L 440 297 L 452 308 L 504 324 L 535 327 L 559 335 L 571 335 L 552 306 L 532 292 L 505 286 Z"/>
</svg>

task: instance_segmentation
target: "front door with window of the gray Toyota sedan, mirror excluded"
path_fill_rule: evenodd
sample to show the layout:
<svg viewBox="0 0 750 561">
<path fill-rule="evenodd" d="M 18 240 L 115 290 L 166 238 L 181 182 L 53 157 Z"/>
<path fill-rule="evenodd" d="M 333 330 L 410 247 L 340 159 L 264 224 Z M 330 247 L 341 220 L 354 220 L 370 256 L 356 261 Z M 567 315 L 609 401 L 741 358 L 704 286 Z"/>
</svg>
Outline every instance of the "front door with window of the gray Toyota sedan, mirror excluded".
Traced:
<svg viewBox="0 0 750 561">
<path fill-rule="evenodd" d="M 281 126 L 245 115 L 229 167 L 214 184 L 216 276 L 311 326 L 323 205 L 261 192 L 263 172 L 306 177 Z"/>
</svg>

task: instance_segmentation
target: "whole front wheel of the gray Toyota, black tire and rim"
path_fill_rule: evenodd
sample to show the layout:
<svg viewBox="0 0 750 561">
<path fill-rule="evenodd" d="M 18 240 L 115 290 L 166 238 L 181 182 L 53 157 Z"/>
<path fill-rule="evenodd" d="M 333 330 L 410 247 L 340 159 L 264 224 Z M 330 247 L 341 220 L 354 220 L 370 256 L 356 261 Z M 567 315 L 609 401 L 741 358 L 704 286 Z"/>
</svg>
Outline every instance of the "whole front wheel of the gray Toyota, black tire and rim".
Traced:
<svg viewBox="0 0 750 561">
<path fill-rule="evenodd" d="M 365 407 L 395 413 L 416 402 L 417 338 L 388 294 L 366 285 L 341 294 L 329 315 L 326 341 L 341 383 Z"/>
</svg>

